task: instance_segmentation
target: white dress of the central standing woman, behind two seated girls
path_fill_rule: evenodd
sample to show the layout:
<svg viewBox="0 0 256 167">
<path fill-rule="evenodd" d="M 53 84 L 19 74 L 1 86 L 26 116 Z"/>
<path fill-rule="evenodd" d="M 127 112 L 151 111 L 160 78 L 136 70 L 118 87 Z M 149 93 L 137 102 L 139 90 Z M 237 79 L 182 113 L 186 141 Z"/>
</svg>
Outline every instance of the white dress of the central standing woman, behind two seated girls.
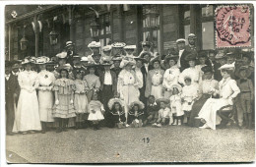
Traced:
<svg viewBox="0 0 256 167">
<path fill-rule="evenodd" d="M 117 92 L 120 98 L 124 100 L 125 116 L 128 117 L 128 105 L 134 101 L 139 101 L 140 91 L 139 82 L 134 71 L 123 69 L 117 81 Z"/>
</svg>

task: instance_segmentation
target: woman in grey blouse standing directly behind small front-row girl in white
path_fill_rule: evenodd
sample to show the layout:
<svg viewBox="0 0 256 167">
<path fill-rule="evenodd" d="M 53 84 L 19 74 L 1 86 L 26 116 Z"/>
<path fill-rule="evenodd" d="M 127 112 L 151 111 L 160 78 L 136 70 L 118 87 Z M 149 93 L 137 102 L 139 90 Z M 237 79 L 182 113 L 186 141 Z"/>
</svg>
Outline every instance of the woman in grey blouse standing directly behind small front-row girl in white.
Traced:
<svg viewBox="0 0 256 167">
<path fill-rule="evenodd" d="M 87 93 L 87 98 L 88 102 L 93 99 L 94 94 L 99 91 L 100 87 L 100 81 L 99 78 L 96 76 L 96 65 L 95 64 L 88 64 L 88 71 L 89 74 L 84 77 L 84 81 L 88 83 L 88 93 Z"/>
</svg>

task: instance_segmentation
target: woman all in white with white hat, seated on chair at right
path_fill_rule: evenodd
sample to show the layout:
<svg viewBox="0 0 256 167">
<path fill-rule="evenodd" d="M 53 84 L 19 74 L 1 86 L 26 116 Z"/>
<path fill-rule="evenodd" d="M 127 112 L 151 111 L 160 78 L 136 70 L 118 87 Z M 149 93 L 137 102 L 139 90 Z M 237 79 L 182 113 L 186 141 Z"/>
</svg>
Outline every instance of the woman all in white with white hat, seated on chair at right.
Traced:
<svg viewBox="0 0 256 167">
<path fill-rule="evenodd" d="M 233 105 L 232 99 L 240 92 L 236 82 L 230 78 L 234 71 L 234 66 L 225 64 L 219 70 L 221 70 L 223 80 L 219 83 L 219 90 L 211 88 L 211 91 L 214 94 L 220 94 L 221 98 L 209 98 L 206 101 L 198 114 L 198 117 L 205 122 L 204 126 L 200 128 L 216 130 L 216 125 L 220 124 L 221 121 L 221 118 L 217 115 L 217 111 L 226 105 Z"/>
</svg>

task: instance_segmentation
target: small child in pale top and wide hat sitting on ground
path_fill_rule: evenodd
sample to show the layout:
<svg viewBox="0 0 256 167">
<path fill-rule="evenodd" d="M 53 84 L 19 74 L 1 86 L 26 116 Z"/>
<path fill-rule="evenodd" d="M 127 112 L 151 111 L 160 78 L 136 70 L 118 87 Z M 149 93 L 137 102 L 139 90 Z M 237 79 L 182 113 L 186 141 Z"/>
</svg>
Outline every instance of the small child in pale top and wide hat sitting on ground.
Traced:
<svg viewBox="0 0 256 167">
<path fill-rule="evenodd" d="M 168 123 L 172 123 L 172 115 L 170 109 L 167 107 L 169 104 L 169 100 L 167 98 L 159 98 L 157 100 L 160 103 L 159 110 L 159 119 L 157 123 L 154 123 L 153 127 L 161 127 L 161 125 L 167 125 Z"/>
</svg>

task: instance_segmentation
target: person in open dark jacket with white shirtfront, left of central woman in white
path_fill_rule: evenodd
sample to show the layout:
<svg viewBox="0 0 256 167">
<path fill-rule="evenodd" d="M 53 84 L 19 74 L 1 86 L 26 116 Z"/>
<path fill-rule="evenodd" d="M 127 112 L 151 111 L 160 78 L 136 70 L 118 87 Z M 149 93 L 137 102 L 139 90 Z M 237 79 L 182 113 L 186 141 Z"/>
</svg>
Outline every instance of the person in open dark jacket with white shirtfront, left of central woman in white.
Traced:
<svg viewBox="0 0 256 167">
<path fill-rule="evenodd" d="M 111 127 L 109 119 L 110 119 L 110 111 L 108 109 L 107 103 L 108 101 L 117 96 L 117 79 L 116 75 L 113 71 L 110 70 L 111 63 L 109 61 L 105 61 L 101 64 L 103 66 L 102 73 L 99 73 L 99 81 L 100 81 L 100 98 L 101 102 L 104 105 L 105 113 L 104 113 L 104 125 L 107 127 Z"/>
</svg>

